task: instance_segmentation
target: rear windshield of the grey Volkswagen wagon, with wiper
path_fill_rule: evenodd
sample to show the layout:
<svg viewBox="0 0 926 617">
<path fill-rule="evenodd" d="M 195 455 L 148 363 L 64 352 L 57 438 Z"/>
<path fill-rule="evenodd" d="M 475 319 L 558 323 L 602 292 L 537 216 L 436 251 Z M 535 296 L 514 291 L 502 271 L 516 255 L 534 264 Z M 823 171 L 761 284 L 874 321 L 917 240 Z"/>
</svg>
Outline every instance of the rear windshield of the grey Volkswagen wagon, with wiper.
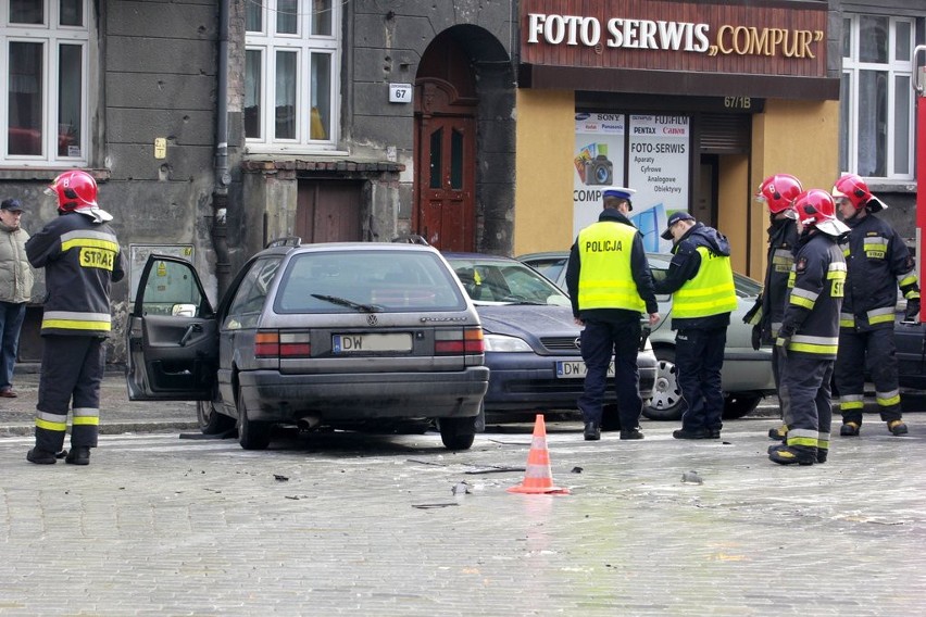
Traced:
<svg viewBox="0 0 926 617">
<path fill-rule="evenodd" d="M 462 311 L 466 300 L 436 254 L 330 251 L 293 256 L 274 302 L 276 313 Z"/>
</svg>

